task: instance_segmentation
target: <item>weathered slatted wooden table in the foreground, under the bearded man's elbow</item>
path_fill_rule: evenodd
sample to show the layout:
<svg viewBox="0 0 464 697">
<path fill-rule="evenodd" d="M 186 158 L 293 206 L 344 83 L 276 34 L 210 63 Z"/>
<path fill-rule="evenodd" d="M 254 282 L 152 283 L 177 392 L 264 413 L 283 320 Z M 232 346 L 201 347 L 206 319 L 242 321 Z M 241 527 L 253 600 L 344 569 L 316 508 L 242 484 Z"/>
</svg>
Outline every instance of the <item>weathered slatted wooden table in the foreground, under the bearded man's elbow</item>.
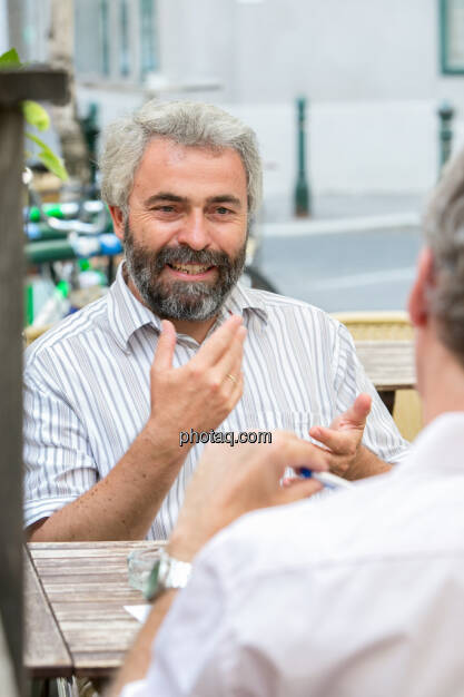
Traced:
<svg viewBox="0 0 464 697">
<path fill-rule="evenodd" d="M 109 677 L 140 624 L 127 556 L 162 542 L 36 542 L 26 563 L 26 655 L 31 677 Z"/>
</svg>

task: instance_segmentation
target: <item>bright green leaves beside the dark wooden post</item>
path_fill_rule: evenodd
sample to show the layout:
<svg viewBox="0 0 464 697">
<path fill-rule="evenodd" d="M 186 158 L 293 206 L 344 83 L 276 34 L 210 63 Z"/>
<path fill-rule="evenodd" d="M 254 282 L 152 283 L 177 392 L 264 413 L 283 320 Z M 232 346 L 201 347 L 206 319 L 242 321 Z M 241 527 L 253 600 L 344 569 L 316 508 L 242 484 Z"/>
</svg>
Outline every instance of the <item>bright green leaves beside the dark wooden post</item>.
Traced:
<svg viewBox="0 0 464 697">
<path fill-rule="evenodd" d="M 14 48 L 0 56 L 0 70 L 8 70 L 11 68 L 20 69 L 23 67 L 24 63 L 20 61 L 18 51 Z M 47 111 L 43 107 L 37 104 L 37 101 L 23 101 L 22 112 L 29 126 L 32 126 L 38 130 L 47 130 L 50 127 L 50 118 Z M 47 167 L 47 169 L 57 175 L 57 177 L 59 177 L 62 181 L 66 181 L 68 179 L 68 173 L 66 171 L 62 159 L 58 157 L 58 155 L 56 155 L 53 150 L 49 148 L 43 140 L 41 140 L 41 138 L 36 136 L 36 134 L 27 131 L 26 137 L 39 146 L 40 150 L 37 153 L 37 157 Z M 29 155 L 29 153 L 27 153 L 27 155 Z"/>
</svg>

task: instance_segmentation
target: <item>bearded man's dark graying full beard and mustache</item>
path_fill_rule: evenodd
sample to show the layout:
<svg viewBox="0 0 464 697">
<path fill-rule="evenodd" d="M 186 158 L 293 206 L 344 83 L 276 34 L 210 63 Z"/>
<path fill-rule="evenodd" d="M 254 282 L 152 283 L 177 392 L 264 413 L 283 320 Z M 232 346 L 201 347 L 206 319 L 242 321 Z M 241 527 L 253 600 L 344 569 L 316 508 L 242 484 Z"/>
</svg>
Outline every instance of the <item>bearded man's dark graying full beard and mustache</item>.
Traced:
<svg viewBox="0 0 464 697">
<path fill-rule="evenodd" d="M 224 252 L 190 247 L 162 247 L 150 253 L 134 242 L 128 223 L 125 225 L 126 267 L 144 303 L 159 317 L 203 322 L 215 317 L 239 279 L 245 266 L 246 243 L 236 257 Z M 199 264 L 216 266 L 214 284 L 196 281 L 165 283 L 159 278 L 166 264 Z"/>
</svg>

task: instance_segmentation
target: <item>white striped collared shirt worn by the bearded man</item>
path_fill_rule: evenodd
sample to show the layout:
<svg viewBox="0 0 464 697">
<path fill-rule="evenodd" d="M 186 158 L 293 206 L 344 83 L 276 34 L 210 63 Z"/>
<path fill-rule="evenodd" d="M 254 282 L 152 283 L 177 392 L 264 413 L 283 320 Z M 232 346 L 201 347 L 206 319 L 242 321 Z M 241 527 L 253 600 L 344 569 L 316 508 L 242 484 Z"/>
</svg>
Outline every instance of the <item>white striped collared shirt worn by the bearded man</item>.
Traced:
<svg viewBox="0 0 464 697">
<path fill-rule="evenodd" d="M 407 443 L 361 366 L 348 331 L 304 302 L 244 288 L 230 293 L 211 332 L 229 313 L 247 327 L 244 394 L 217 431 L 287 429 L 308 439 L 359 392 L 373 395 L 364 444 L 398 462 Z M 108 294 L 70 315 L 26 352 L 24 523 L 76 500 L 122 458 L 150 410 L 150 366 L 160 320 L 129 291 L 122 265 Z M 174 365 L 199 344 L 178 334 Z M 156 399 L 156 396 L 155 396 Z M 147 539 L 169 536 L 204 445 L 190 449 Z"/>
</svg>

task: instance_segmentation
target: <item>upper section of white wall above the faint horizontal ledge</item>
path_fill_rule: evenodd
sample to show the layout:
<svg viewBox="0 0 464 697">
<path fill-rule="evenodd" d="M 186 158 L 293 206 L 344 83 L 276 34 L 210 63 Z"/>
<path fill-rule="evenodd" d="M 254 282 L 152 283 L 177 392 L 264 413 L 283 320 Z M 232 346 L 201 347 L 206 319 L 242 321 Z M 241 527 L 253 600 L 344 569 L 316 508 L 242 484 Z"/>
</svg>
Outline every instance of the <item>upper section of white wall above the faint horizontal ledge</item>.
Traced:
<svg viewBox="0 0 464 697">
<path fill-rule="evenodd" d="M 168 73 L 214 73 L 224 99 L 415 100 L 463 94 L 438 66 L 437 0 L 158 0 Z"/>
</svg>

